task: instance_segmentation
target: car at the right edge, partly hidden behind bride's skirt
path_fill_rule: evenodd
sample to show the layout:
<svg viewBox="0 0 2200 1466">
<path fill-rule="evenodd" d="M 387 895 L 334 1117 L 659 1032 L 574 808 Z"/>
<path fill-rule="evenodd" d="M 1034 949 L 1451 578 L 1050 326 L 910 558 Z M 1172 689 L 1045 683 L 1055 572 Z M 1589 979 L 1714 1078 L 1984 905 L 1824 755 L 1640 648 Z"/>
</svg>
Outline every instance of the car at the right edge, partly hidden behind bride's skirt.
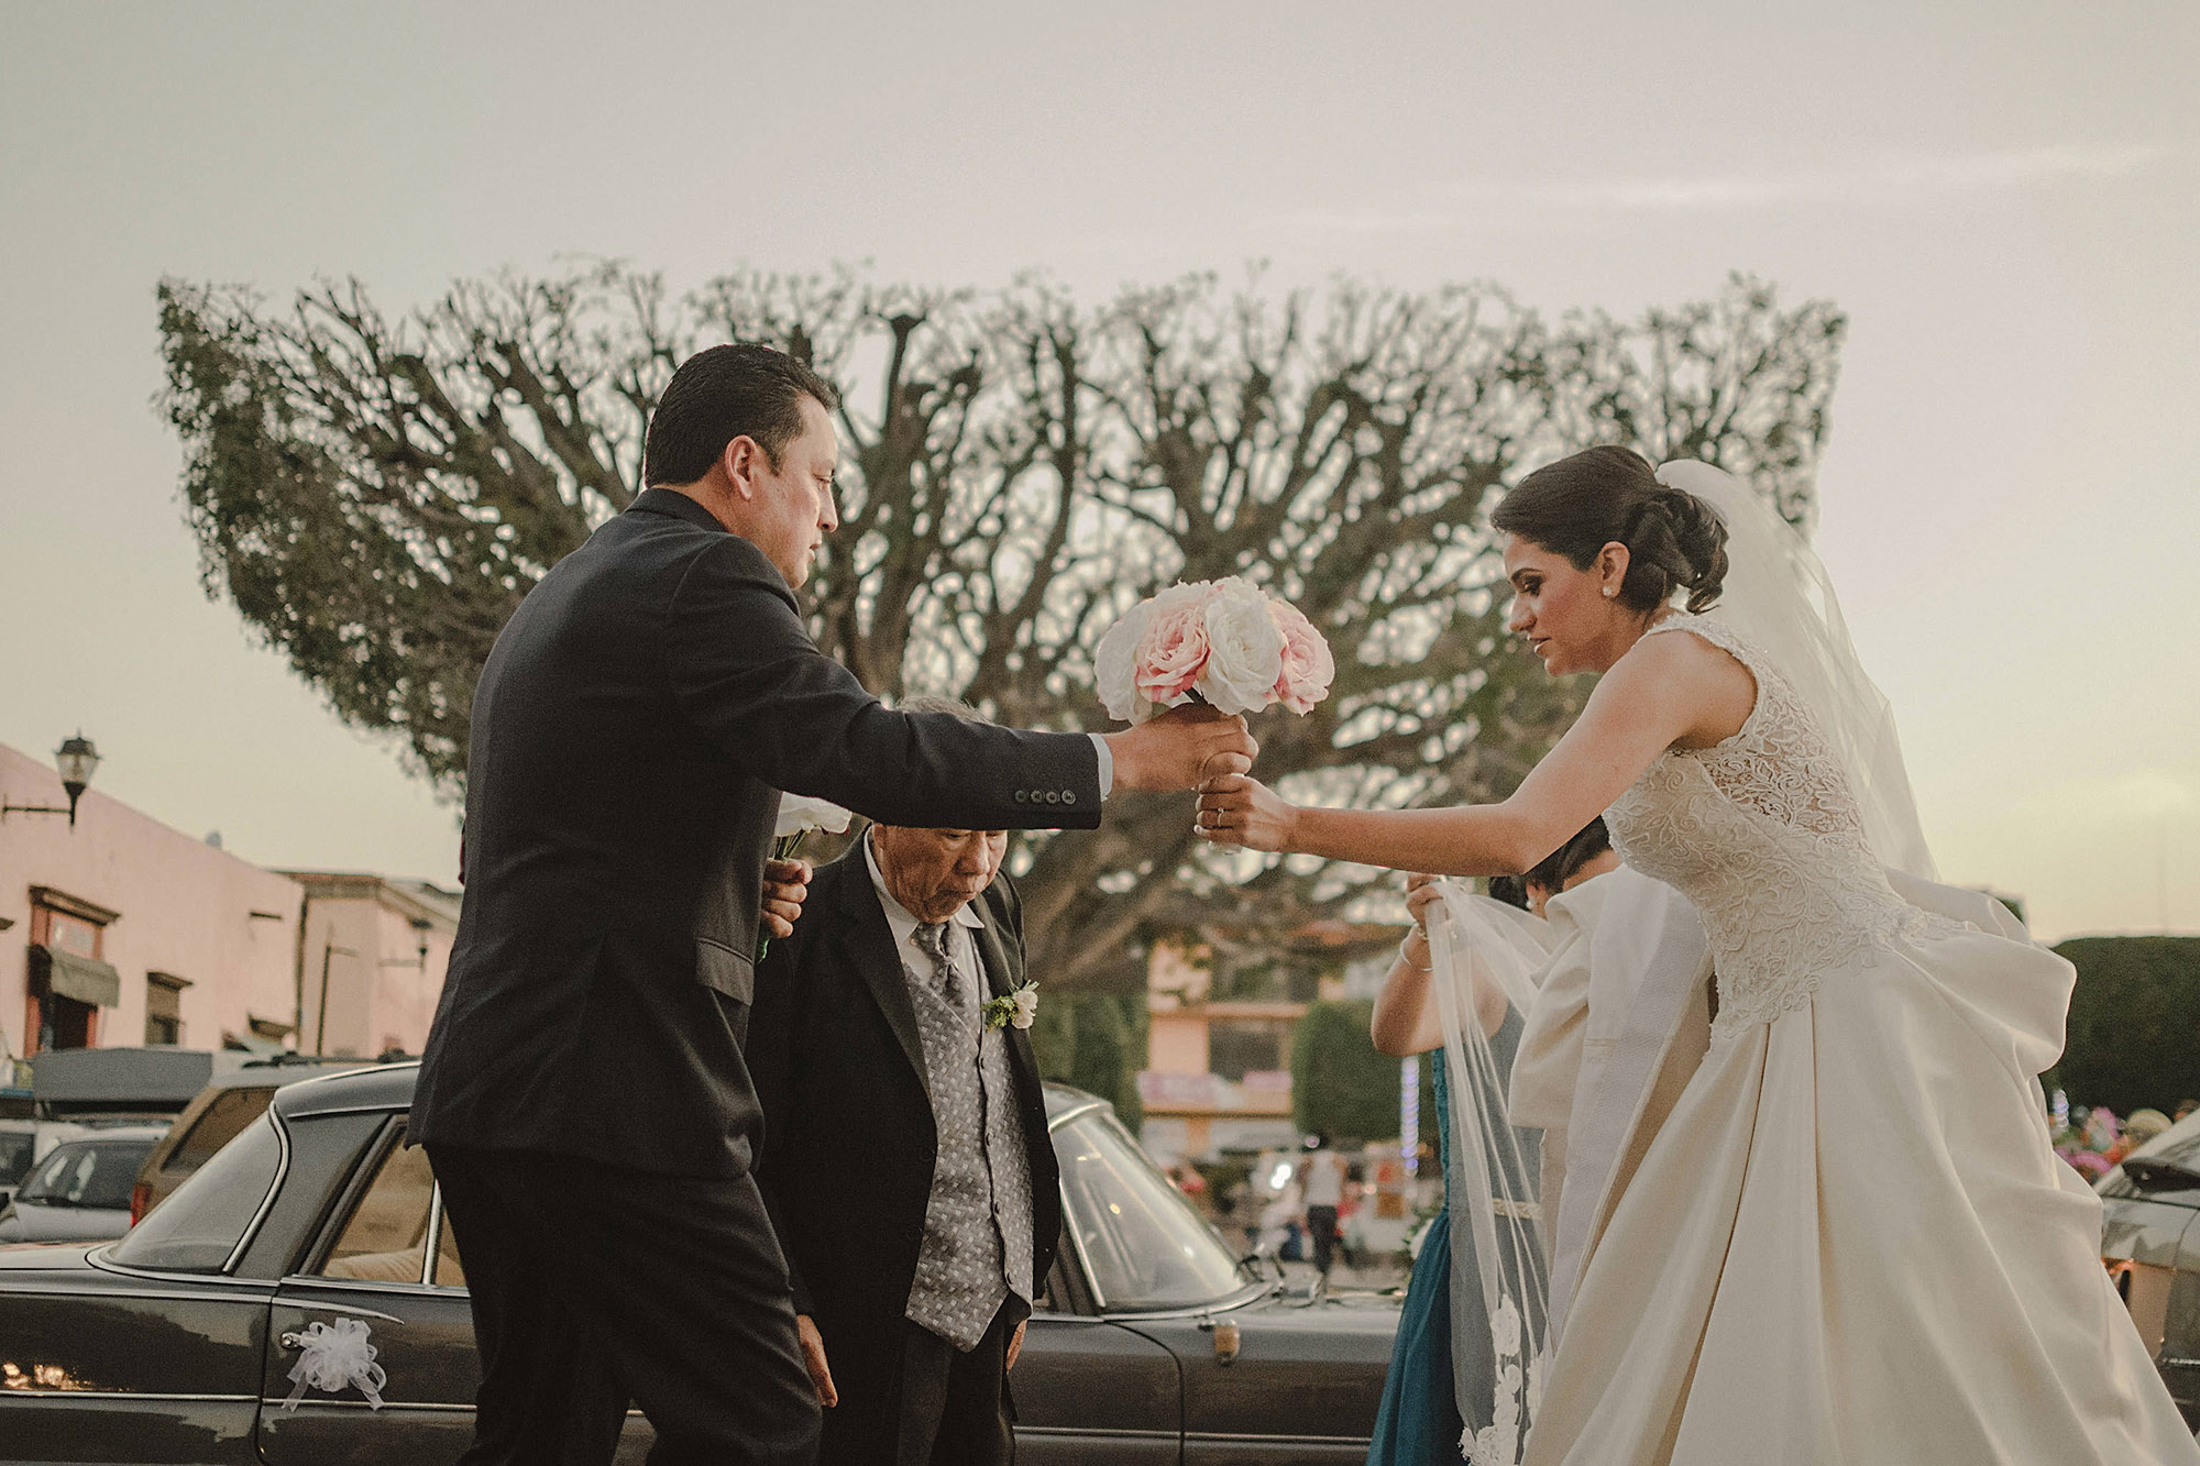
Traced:
<svg viewBox="0 0 2200 1466">
<path fill-rule="evenodd" d="M 2200 1433 L 2200 1114 L 2099 1180 L 2101 1259 L 2154 1349 L 2185 1424 Z"/>
</svg>

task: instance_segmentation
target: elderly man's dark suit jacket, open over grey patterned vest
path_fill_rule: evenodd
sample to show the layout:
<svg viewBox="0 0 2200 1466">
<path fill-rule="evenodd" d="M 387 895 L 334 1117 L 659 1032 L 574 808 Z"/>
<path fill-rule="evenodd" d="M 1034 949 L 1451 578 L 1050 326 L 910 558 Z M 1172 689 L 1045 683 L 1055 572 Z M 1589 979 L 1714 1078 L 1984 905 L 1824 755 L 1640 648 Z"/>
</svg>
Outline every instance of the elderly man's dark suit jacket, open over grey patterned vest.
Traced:
<svg viewBox="0 0 2200 1466">
<path fill-rule="evenodd" d="M 1016 887 L 1001 876 L 972 909 L 986 982 L 1003 995 L 1023 982 Z M 1045 1286 L 1063 1233 L 1060 1171 L 1030 1035 L 1003 1032 L 1032 1167 L 1032 1279 Z M 860 845 L 816 872 L 794 940 L 772 942 L 748 1054 L 763 1103 L 757 1184 L 788 1255 L 794 1312 L 816 1319 L 840 1391 L 827 1455 L 856 1459 L 865 1453 L 834 1444 L 893 1440 L 937 1151 L 917 1013 Z"/>
</svg>

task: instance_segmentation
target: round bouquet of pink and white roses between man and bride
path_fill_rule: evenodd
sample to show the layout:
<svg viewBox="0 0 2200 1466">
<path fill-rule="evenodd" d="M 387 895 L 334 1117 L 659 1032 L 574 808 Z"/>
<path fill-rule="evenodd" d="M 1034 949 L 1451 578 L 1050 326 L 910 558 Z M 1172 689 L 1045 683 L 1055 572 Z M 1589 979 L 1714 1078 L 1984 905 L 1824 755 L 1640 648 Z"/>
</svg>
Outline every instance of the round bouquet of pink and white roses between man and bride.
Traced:
<svg viewBox="0 0 2200 1466">
<path fill-rule="evenodd" d="M 1146 722 L 1199 698 L 1223 713 L 1309 713 L 1338 663 L 1313 623 L 1243 577 L 1192 581 L 1133 605 L 1093 652 L 1109 718 Z"/>
</svg>

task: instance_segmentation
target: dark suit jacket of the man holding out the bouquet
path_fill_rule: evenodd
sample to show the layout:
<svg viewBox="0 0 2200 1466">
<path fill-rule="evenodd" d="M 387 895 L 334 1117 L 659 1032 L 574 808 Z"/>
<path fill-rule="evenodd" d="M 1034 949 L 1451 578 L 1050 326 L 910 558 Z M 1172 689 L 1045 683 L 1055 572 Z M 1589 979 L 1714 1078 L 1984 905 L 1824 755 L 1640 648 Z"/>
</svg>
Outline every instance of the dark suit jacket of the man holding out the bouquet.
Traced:
<svg viewBox="0 0 2200 1466">
<path fill-rule="evenodd" d="M 893 713 L 757 546 L 645 491 L 528 592 L 473 696 L 466 900 L 411 1140 L 741 1175 L 779 790 L 900 825 L 1100 821 L 1078 733 Z"/>
</svg>

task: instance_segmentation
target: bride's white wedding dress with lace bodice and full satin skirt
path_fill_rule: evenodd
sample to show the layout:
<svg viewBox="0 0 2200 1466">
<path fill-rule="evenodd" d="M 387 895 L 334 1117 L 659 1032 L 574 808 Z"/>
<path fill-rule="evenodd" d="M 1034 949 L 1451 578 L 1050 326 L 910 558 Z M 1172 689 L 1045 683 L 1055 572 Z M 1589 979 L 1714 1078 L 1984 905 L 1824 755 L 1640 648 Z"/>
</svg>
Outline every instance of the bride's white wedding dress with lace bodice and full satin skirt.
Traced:
<svg viewBox="0 0 2200 1466">
<path fill-rule="evenodd" d="M 1591 1241 L 1527 1464 L 2200 1466 L 2048 1149 L 2070 964 L 1890 880 L 1806 702 L 1716 614 L 1652 634 L 1758 685 L 1606 812 L 1703 916 L 1718 1015 Z"/>
</svg>

